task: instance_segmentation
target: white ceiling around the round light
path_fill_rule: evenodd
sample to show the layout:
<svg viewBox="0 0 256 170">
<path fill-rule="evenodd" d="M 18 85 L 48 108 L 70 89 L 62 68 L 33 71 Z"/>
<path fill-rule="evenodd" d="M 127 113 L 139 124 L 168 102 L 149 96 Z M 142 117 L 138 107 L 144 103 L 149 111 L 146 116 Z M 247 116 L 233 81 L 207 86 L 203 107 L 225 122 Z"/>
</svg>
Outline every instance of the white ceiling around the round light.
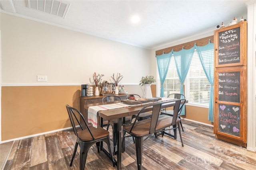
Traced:
<svg viewBox="0 0 256 170">
<path fill-rule="evenodd" d="M 62 0 L 62 14 L 49 14 L 52 0 L 1 0 L 1 12 L 146 49 L 228 25 L 247 17 L 245 0 Z M 38 2 L 38 9 L 32 7 Z M 47 3 L 44 8 L 44 2 Z M 50 3 L 49 3 L 50 2 Z M 42 7 L 42 8 L 40 8 Z M 65 8 L 66 7 L 66 8 Z M 54 13 L 54 8 L 52 11 Z M 45 9 L 45 12 L 43 10 Z M 66 10 L 66 11 L 65 11 Z M 66 14 L 63 14 L 66 12 Z M 58 16 L 59 15 L 59 16 Z M 63 15 L 63 16 L 62 16 Z M 132 23 L 132 16 L 140 21 Z"/>
</svg>

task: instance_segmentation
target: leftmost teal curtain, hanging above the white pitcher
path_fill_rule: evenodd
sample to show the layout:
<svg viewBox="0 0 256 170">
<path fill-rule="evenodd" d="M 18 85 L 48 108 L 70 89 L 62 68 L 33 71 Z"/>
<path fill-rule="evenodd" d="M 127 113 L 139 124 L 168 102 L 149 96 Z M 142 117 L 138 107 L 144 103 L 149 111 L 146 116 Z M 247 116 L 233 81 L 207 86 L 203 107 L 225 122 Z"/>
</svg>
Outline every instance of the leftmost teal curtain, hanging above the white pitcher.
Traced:
<svg viewBox="0 0 256 170">
<path fill-rule="evenodd" d="M 156 61 L 157 61 L 157 67 L 160 77 L 160 83 L 161 83 L 161 93 L 160 97 L 164 97 L 164 80 L 166 78 L 168 68 L 170 65 L 171 57 L 172 57 L 173 49 L 168 54 L 162 54 L 162 55 L 156 55 Z"/>
</svg>

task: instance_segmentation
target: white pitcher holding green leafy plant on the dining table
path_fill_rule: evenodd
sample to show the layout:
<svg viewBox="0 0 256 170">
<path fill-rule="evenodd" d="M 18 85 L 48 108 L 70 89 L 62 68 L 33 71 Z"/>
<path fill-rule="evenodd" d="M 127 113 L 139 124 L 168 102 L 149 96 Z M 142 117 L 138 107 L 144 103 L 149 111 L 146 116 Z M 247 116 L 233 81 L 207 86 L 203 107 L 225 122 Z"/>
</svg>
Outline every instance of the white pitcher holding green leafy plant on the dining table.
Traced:
<svg viewBox="0 0 256 170">
<path fill-rule="evenodd" d="M 152 99 L 152 92 L 151 92 L 150 86 L 154 82 L 156 82 L 156 80 L 154 79 L 154 76 L 146 76 L 141 78 L 139 85 L 143 91 L 144 98 Z M 144 89 L 142 88 L 142 86 L 145 86 Z"/>
</svg>

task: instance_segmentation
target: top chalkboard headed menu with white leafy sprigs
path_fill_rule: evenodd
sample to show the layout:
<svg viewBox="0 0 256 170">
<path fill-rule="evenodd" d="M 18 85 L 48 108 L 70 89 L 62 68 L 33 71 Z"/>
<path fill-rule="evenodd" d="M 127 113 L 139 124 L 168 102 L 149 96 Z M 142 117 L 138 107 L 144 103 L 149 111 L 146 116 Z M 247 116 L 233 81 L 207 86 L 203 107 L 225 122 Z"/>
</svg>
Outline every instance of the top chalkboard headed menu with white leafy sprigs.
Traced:
<svg viewBox="0 0 256 170">
<path fill-rule="evenodd" d="M 240 63 L 240 27 L 220 32 L 219 64 Z"/>
</svg>

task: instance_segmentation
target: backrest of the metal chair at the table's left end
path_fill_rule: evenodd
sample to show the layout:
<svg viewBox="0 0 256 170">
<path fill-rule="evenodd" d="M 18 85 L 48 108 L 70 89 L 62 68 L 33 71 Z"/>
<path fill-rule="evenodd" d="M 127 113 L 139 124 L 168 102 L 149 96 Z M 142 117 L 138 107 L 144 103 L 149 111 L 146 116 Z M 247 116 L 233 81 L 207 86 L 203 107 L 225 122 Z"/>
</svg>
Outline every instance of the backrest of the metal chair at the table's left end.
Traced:
<svg viewBox="0 0 256 170">
<path fill-rule="evenodd" d="M 86 123 L 86 121 L 85 121 L 84 116 L 82 115 L 82 113 L 81 113 L 80 111 L 78 111 L 77 109 L 75 109 L 75 108 L 73 108 L 73 107 L 70 107 L 70 106 L 68 106 L 68 105 L 66 105 L 66 108 L 67 108 L 67 110 L 68 110 L 68 115 L 69 115 L 69 118 L 70 118 L 70 122 L 71 122 L 71 125 L 72 125 L 72 127 L 73 127 L 73 130 L 74 130 L 74 133 L 75 133 L 76 137 L 79 138 L 78 133 L 77 133 L 77 127 L 76 127 L 76 123 L 78 123 L 79 126 L 80 126 L 80 128 L 81 128 L 82 130 L 84 130 L 84 129 L 87 128 L 88 131 L 90 132 L 91 136 L 92 136 L 92 139 L 95 140 L 95 138 L 94 138 L 94 136 L 92 135 L 92 132 L 91 132 L 91 130 L 90 130 L 88 124 Z M 80 123 L 80 121 L 79 121 L 79 119 L 78 119 L 78 116 L 80 116 L 80 121 L 81 121 L 81 119 L 82 119 L 82 121 L 83 121 L 84 124 L 86 125 L 86 128 L 84 128 L 84 127 L 82 126 L 82 124 Z M 74 119 L 74 118 L 75 118 L 75 119 Z M 76 120 L 76 121 L 74 121 L 74 120 Z"/>
</svg>

